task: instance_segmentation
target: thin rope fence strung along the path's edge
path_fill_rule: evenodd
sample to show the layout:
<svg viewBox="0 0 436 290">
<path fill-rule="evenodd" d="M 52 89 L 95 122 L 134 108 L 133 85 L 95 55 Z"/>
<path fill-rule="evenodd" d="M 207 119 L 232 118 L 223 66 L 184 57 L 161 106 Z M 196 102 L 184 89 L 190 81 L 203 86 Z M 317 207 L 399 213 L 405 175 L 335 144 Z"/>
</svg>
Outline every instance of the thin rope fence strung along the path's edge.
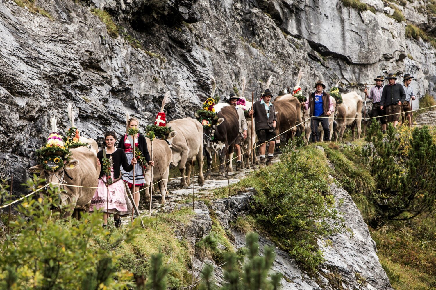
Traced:
<svg viewBox="0 0 436 290">
<path fill-rule="evenodd" d="M 408 111 L 408 112 L 415 112 L 415 111 L 419 111 L 419 110 L 426 110 L 426 109 L 430 109 L 430 108 L 434 108 L 434 107 L 436 107 L 436 105 L 434 105 L 434 106 L 429 106 L 429 107 L 425 107 L 425 108 L 419 108 L 419 109 L 415 109 L 415 110 L 410 110 L 410 111 Z M 404 112 L 400 112 L 400 113 L 392 113 L 392 114 L 388 114 L 388 115 L 384 115 L 384 116 L 362 118 L 362 120 L 371 120 L 371 119 L 376 119 L 376 118 L 379 118 L 379 117 L 387 117 L 387 116 L 392 116 L 392 115 L 399 115 L 399 114 L 402 114 L 402 113 L 404 113 Z M 276 140 L 277 137 L 279 137 L 279 136 L 281 136 L 281 135 L 283 135 L 283 134 L 289 132 L 289 131 L 292 130 L 292 129 L 295 129 L 295 128 L 299 127 L 301 124 L 304 124 L 306 121 L 310 120 L 311 118 L 312 118 L 312 117 L 307 118 L 306 120 L 302 121 L 301 123 L 298 123 L 297 125 L 295 125 L 295 126 L 289 128 L 289 129 L 283 131 L 282 133 L 279 133 L 278 135 L 276 135 L 275 137 L 273 137 L 273 138 L 271 138 L 271 139 L 265 141 L 264 143 L 268 143 L 269 141 Z M 330 117 L 317 117 L 317 118 L 330 118 Z M 334 117 L 334 119 L 351 119 L 351 120 L 354 120 L 355 118 L 337 118 L 337 117 Z M 252 147 L 252 150 L 255 150 L 256 148 L 262 146 L 264 143 L 259 144 L 259 145 L 255 146 L 255 147 Z M 247 153 L 247 152 L 245 152 L 245 153 Z M 242 153 L 241 153 L 241 155 L 242 155 Z M 238 156 L 233 157 L 231 160 L 229 160 L 229 161 L 227 161 L 227 162 L 232 162 L 232 161 L 235 160 L 236 158 L 238 158 Z M 217 167 L 221 167 L 221 166 L 225 165 L 227 162 L 224 162 L 224 163 L 218 164 L 218 165 L 216 165 L 216 166 L 214 166 L 214 167 L 211 167 L 209 170 L 215 169 L 215 168 L 217 168 Z M 204 171 L 207 171 L 207 170 L 202 170 L 201 173 L 204 172 Z M 251 170 L 250 170 L 250 171 L 251 171 Z M 185 178 L 191 178 L 191 177 L 194 178 L 194 177 L 197 176 L 197 175 L 200 175 L 200 172 L 195 173 L 195 174 L 191 174 L 191 175 L 189 175 L 189 176 L 184 176 L 184 177 L 185 177 Z M 180 178 L 181 178 L 181 177 L 164 178 L 164 179 L 160 179 L 160 180 L 158 180 L 156 183 L 153 183 L 153 180 L 151 180 L 151 181 L 150 181 L 151 184 L 150 184 L 148 187 L 144 187 L 143 189 L 139 190 L 138 193 L 141 192 L 141 191 L 143 191 L 143 190 L 149 190 L 151 186 L 155 186 L 155 185 L 159 184 L 161 181 L 164 181 L 164 180 L 174 180 L 174 179 L 180 179 Z M 194 181 L 193 181 L 193 183 L 194 183 Z M 80 188 L 106 189 L 106 187 L 85 187 L 85 186 L 81 186 L 81 185 L 74 185 L 74 184 L 68 184 L 68 183 L 54 183 L 54 182 L 50 182 L 50 183 L 47 183 L 44 187 L 41 187 L 41 188 L 39 188 L 39 189 L 37 189 L 37 190 L 31 192 L 31 193 L 28 193 L 28 194 L 25 195 L 24 197 L 20 197 L 20 198 L 17 199 L 17 200 L 14 200 L 14 201 L 12 201 L 12 202 L 7 202 L 7 203 L 5 203 L 4 205 L 0 206 L 0 209 L 5 208 L 5 207 L 8 207 L 8 206 L 10 206 L 10 205 L 12 205 L 12 204 L 14 204 L 14 203 L 17 203 L 18 201 L 23 200 L 23 199 L 26 198 L 26 197 L 30 197 L 32 194 L 37 193 L 38 191 L 44 189 L 45 187 L 47 187 L 47 186 L 50 185 L 50 184 L 52 184 L 52 185 L 62 185 L 62 186 L 66 186 L 66 187 L 80 187 Z M 151 202 L 151 201 L 150 201 L 150 202 Z"/>
</svg>

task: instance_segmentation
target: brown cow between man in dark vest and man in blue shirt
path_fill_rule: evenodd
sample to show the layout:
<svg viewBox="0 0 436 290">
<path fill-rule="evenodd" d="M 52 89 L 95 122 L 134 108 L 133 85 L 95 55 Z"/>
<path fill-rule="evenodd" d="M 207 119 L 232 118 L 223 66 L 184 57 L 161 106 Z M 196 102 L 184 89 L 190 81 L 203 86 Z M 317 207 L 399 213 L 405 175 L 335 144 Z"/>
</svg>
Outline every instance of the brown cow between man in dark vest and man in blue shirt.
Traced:
<svg viewBox="0 0 436 290">
<path fill-rule="evenodd" d="M 285 145 L 289 138 L 294 140 L 295 133 L 297 131 L 297 124 L 301 132 L 304 131 L 304 125 L 301 120 L 301 103 L 296 97 L 292 97 L 290 93 L 276 97 L 273 102 L 276 107 L 277 126 L 276 134 L 279 135 L 283 132 L 285 137 Z M 291 130 L 289 130 L 292 128 Z"/>
</svg>

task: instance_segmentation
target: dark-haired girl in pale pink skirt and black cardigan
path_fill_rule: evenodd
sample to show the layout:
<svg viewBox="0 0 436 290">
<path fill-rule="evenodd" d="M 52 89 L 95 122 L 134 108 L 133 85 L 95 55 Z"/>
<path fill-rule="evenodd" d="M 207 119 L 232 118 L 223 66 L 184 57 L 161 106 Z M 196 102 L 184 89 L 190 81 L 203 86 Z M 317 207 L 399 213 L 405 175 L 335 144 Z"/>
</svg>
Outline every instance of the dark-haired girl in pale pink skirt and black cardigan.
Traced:
<svg viewBox="0 0 436 290">
<path fill-rule="evenodd" d="M 120 215 L 132 212 L 132 204 L 124 190 L 123 179 L 121 178 L 120 167 L 127 172 L 133 170 L 136 158 L 127 160 L 123 149 L 115 148 L 116 134 L 113 131 L 105 133 L 106 148 L 97 153 L 100 161 L 100 177 L 94 197 L 91 200 L 91 208 L 103 211 L 103 227 L 107 226 L 108 214 L 114 213 L 115 227 L 121 226 Z M 109 186 L 107 182 L 107 171 L 103 169 L 103 158 L 109 159 Z M 106 172 L 104 172 L 106 171 Z M 109 193 L 108 193 L 109 188 Z"/>
</svg>

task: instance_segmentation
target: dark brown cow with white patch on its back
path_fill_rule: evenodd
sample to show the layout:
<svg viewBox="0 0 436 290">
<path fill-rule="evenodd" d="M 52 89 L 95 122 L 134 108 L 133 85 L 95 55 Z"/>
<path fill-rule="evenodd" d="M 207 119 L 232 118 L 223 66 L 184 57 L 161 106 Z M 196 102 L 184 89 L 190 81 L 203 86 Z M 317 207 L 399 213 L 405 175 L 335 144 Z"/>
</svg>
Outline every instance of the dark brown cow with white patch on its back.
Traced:
<svg viewBox="0 0 436 290">
<path fill-rule="evenodd" d="M 224 162 L 226 162 L 228 170 L 232 171 L 232 162 L 228 162 L 229 154 L 233 153 L 233 143 L 239 133 L 238 113 L 235 107 L 219 103 L 215 105 L 215 110 L 218 114 L 218 120 L 222 120 L 222 123 L 219 126 L 214 125 L 213 129 L 204 130 L 203 134 L 203 142 L 206 144 L 206 158 L 208 160 L 206 179 L 211 177 L 212 151 L 218 153 L 218 150 L 221 149 L 221 154 L 219 154 L 221 164 L 219 173 L 224 175 Z M 212 137 L 213 139 L 211 139 Z"/>
</svg>

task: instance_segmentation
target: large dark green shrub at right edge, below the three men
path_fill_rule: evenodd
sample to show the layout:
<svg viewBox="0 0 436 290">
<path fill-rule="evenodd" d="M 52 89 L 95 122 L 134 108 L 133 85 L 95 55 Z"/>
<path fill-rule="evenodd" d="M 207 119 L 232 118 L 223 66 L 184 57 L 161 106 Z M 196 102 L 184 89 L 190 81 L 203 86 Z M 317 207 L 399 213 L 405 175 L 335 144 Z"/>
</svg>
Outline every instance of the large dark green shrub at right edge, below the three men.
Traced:
<svg viewBox="0 0 436 290">
<path fill-rule="evenodd" d="M 428 128 L 415 128 L 407 158 L 399 153 L 396 130 L 391 124 L 386 137 L 380 124 L 368 130 L 368 146 L 362 150 L 368 170 L 376 180 L 377 190 L 371 202 L 377 209 L 377 227 L 386 220 L 407 220 L 422 213 L 431 213 L 436 197 L 436 146 Z M 386 138 L 386 140 L 384 140 Z"/>
</svg>

